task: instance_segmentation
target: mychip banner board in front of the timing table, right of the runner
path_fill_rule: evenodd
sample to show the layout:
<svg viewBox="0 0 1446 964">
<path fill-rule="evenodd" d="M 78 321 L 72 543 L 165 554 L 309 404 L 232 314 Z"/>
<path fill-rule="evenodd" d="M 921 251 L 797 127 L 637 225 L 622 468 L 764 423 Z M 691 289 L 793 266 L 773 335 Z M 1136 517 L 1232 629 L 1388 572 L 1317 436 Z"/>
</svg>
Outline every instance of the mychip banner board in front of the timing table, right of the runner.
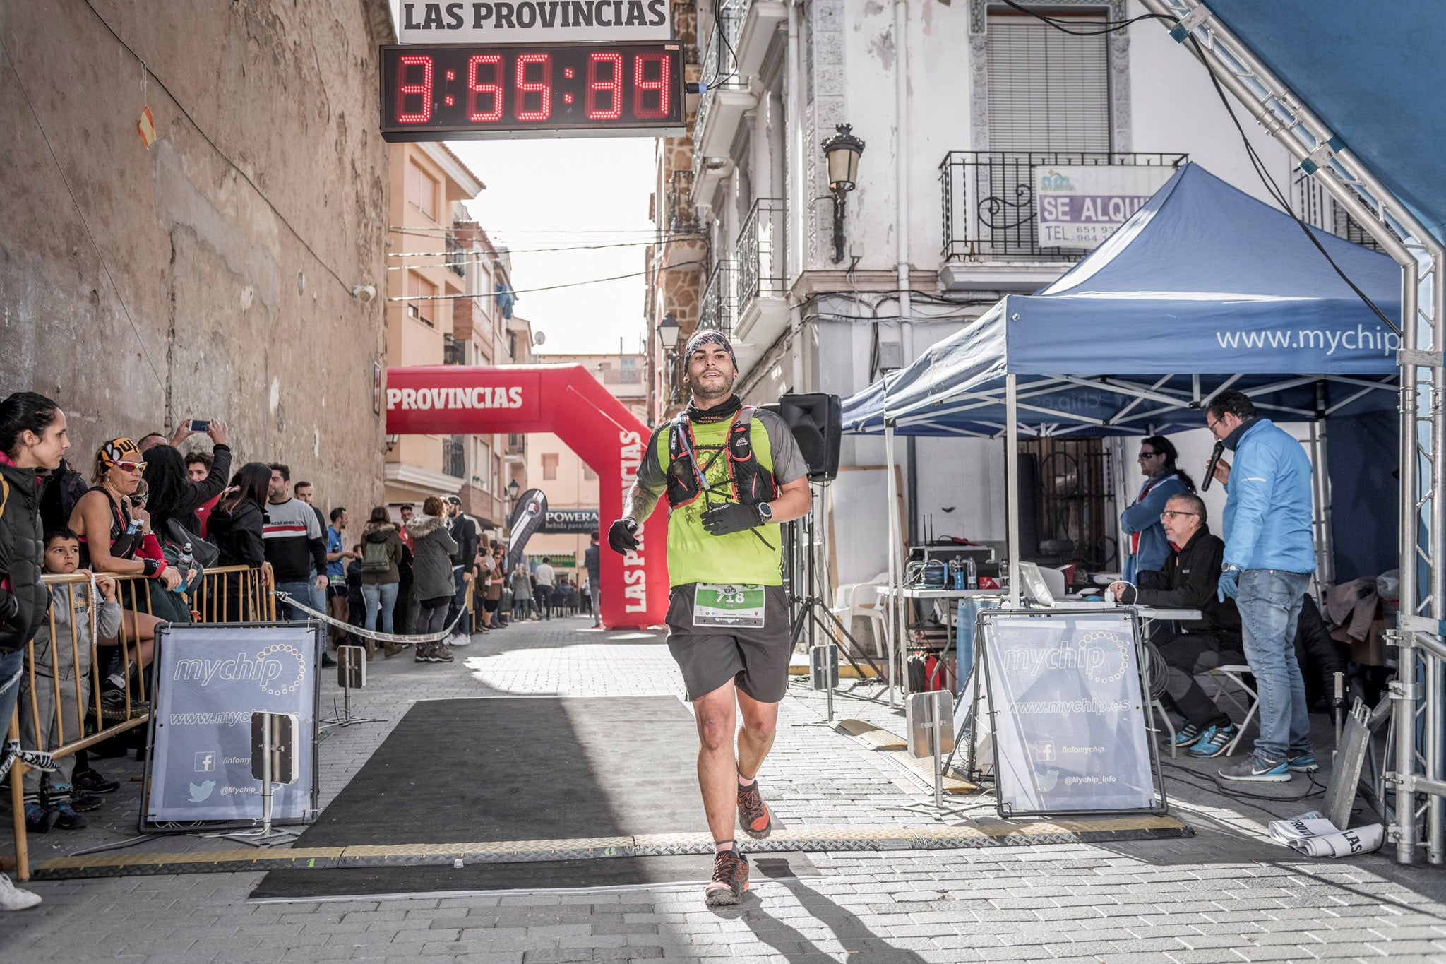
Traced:
<svg viewBox="0 0 1446 964">
<path fill-rule="evenodd" d="M 999 815 L 1164 812 L 1134 616 L 980 614 Z"/>
</svg>

